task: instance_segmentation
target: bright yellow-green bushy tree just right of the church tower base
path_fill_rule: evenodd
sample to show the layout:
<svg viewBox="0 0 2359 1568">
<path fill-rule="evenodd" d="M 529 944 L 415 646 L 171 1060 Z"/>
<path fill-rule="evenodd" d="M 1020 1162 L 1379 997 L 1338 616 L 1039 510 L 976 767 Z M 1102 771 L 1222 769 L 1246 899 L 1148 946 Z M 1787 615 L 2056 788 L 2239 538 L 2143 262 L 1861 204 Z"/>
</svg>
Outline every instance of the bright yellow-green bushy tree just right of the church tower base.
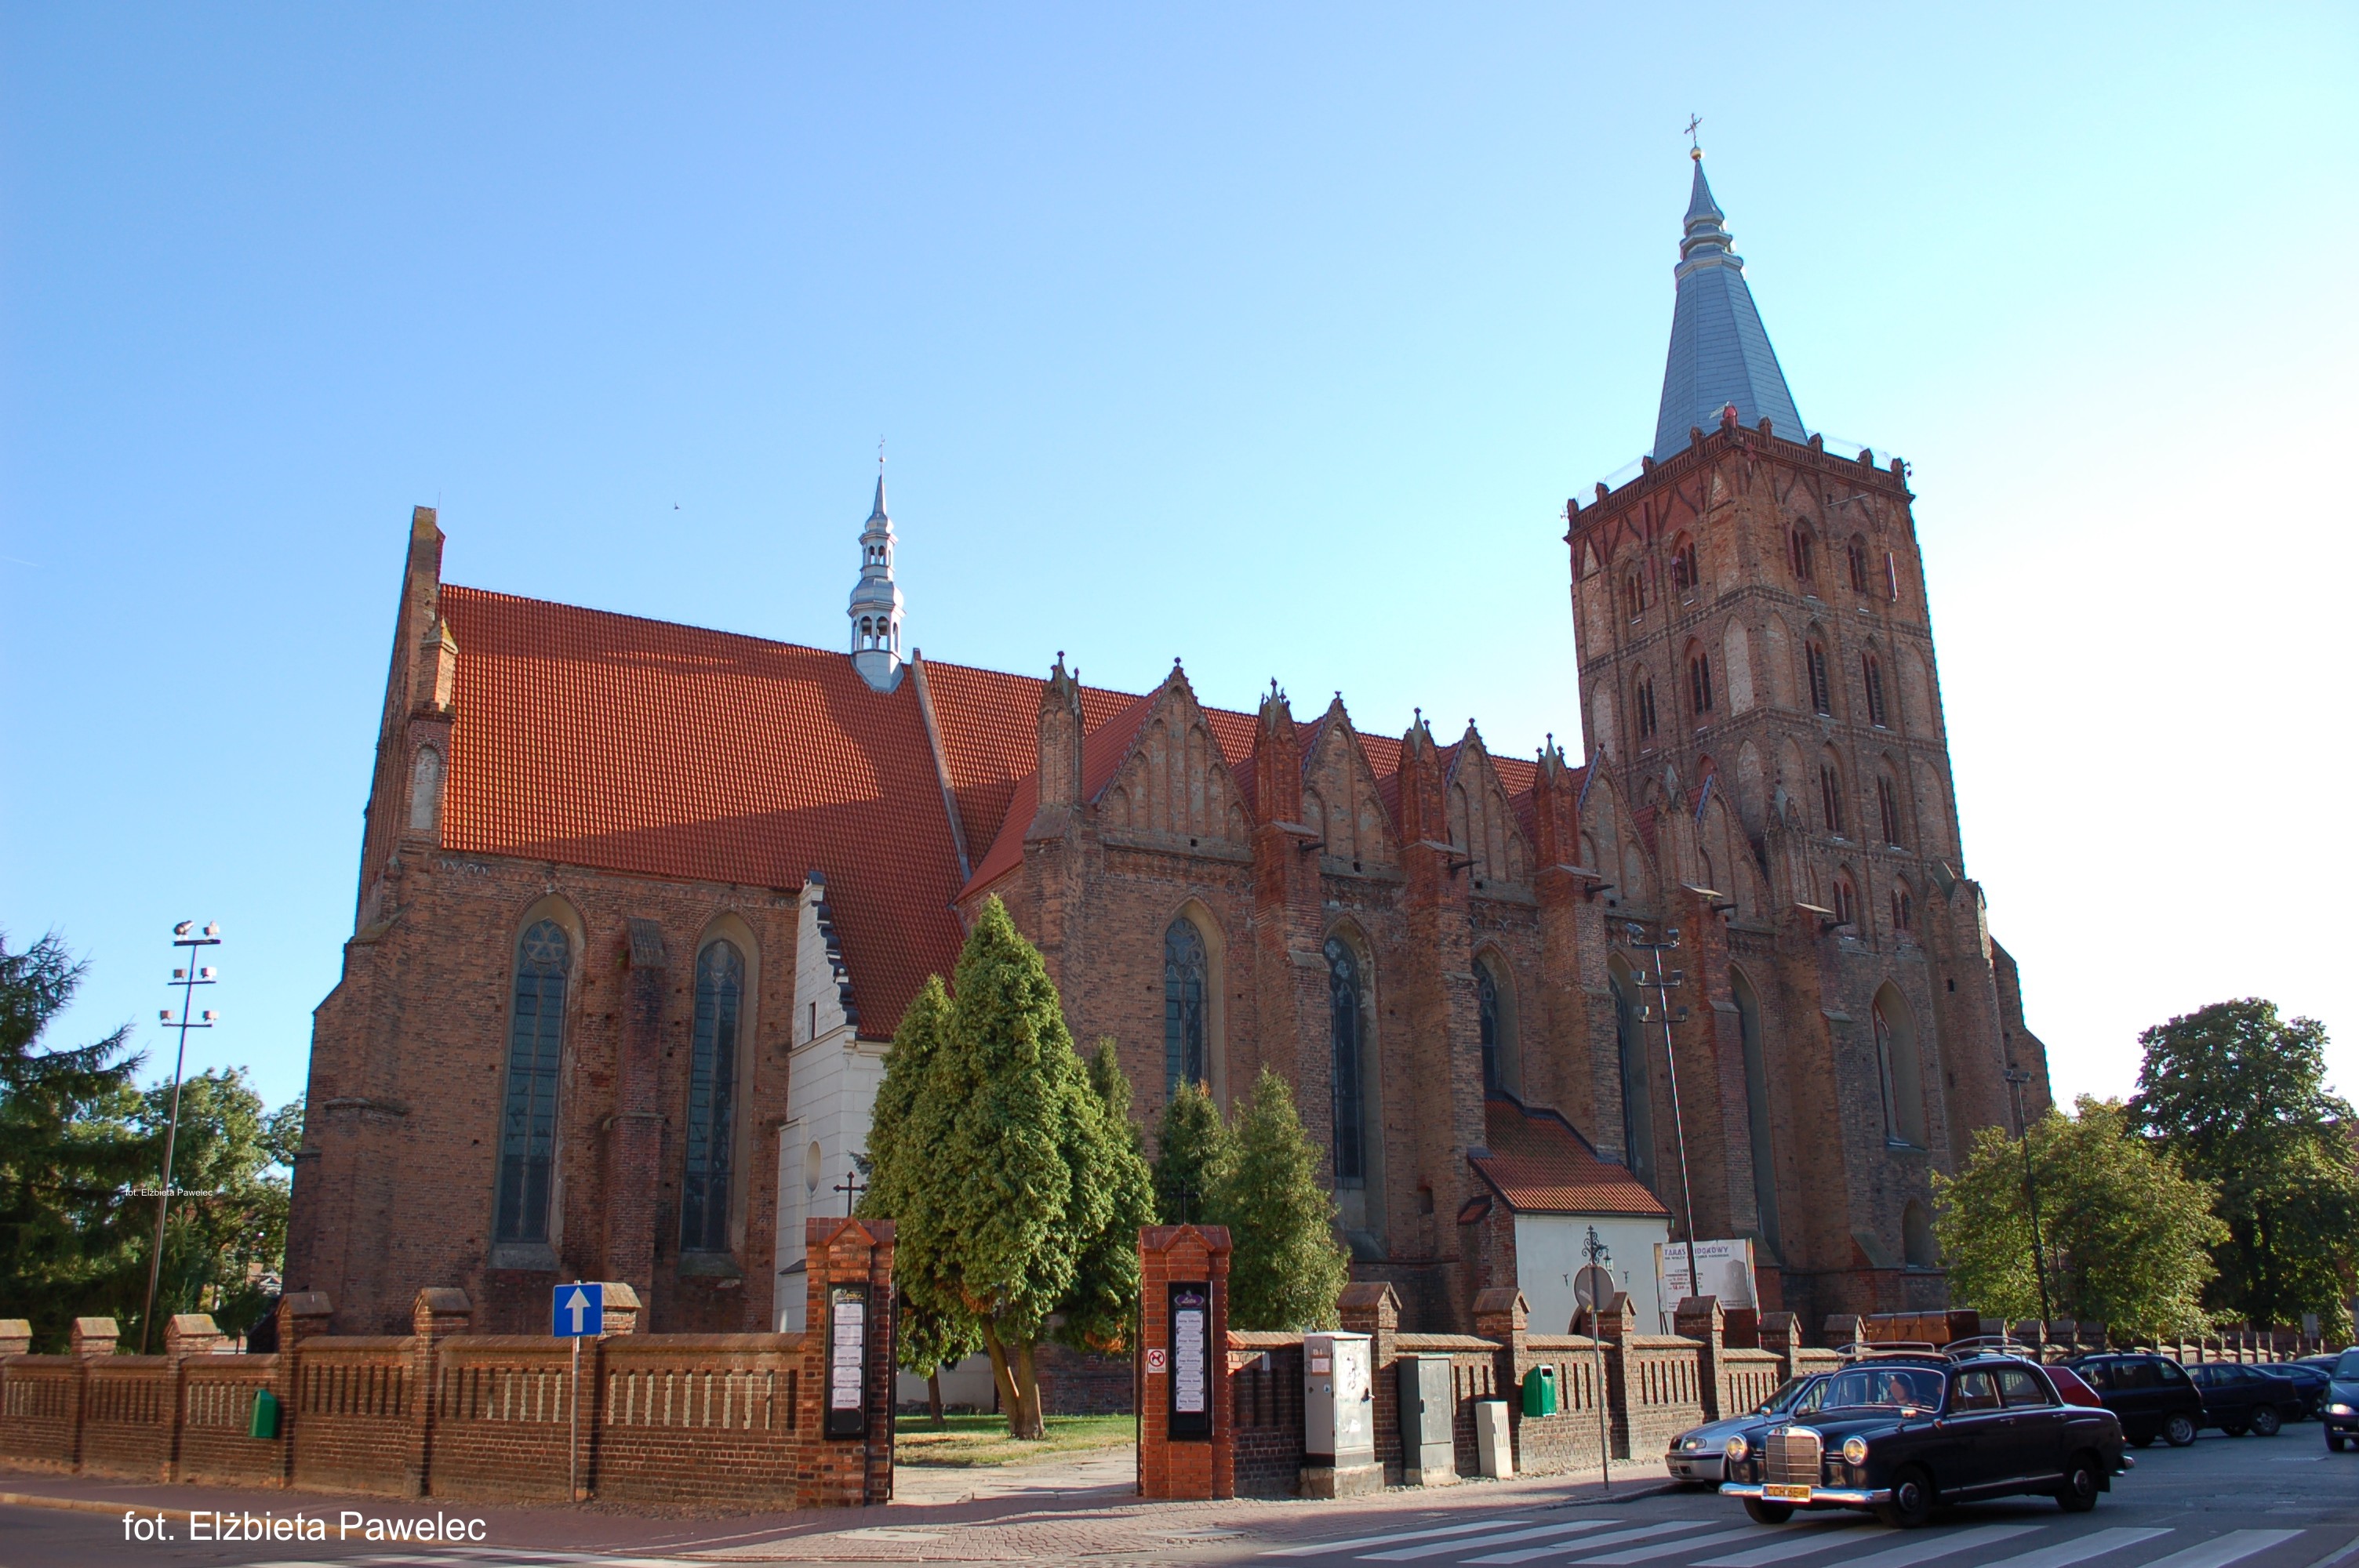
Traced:
<svg viewBox="0 0 2359 1568">
<path fill-rule="evenodd" d="M 2083 1094 L 2074 1115 L 2050 1108 L 2026 1137 L 2057 1311 L 2123 1339 L 2199 1330 L 2208 1247 L 2225 1236 L 2210 1186 L 2142 1139 L 2121 1101 Z M 1965 1167 L 1934 1172 L 1932 1184 L 1951 1299 L 2036 1318 L 2024 1144 L 2005 1127 L 1984 1127 Z"/>
</svg>

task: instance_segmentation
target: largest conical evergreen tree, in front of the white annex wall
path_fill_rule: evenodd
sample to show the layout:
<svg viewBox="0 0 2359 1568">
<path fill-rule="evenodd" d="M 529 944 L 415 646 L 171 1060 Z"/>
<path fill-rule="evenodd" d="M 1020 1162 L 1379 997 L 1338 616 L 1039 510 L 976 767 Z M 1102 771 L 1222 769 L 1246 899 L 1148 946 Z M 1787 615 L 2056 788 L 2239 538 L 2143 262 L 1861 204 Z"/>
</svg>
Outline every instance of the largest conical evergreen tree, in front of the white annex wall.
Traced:
<svg viewBox="0 0 2359 1568">
<path fill-rule="evenodd" d="M 974 1320 L 1010 1436 L 1043 1436 L 1033 1349 L 1059 1313 L 1064 1335 L 1121 1335 L 1132 1306 L 1116 1299 L 1106 1233 L 1146 1212 L 1125 1212 L 1146 1172 L 1073 1052 L 1047 964 L 998 898 L 967 934 L 953 993 L 932 979 L 903 1016 L 868 1153 L 863 1203 L 896 1224 L 911 1302 Z"/>
</svg>

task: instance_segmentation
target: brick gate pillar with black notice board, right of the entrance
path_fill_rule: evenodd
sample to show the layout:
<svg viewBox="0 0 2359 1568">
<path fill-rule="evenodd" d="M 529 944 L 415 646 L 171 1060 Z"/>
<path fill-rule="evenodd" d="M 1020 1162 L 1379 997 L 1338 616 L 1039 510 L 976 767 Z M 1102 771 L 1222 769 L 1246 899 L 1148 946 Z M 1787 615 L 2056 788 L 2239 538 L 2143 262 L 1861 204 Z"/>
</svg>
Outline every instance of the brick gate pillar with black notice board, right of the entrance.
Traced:
<svg viewBox="0 0 2359 1568">
<path fill-rule="evenodd" d="M 1227 1226 L 1139 1228 L 1139 1495 L 1236 1497 Z"/>
</svg>

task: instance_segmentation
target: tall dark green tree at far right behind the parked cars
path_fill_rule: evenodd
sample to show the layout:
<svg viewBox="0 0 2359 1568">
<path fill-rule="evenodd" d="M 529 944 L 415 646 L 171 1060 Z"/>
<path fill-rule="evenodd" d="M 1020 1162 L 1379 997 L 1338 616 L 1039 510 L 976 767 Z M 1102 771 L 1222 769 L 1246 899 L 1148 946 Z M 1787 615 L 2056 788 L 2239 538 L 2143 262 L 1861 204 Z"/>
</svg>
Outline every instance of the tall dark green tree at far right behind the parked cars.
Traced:
<svg viewBox="0 0 2359 1568">
<path fill-rule="evenodd" d="M 2350 1101 L 2326 1089 L 2326 1026 L 2243 997 L 2137 1042 L 2135 1118 L 2220 1188 L 2213 1306 L 2258 1325 L 2333 1316 L 2359 1254 L 2359 1153 Z"/>
</svg>

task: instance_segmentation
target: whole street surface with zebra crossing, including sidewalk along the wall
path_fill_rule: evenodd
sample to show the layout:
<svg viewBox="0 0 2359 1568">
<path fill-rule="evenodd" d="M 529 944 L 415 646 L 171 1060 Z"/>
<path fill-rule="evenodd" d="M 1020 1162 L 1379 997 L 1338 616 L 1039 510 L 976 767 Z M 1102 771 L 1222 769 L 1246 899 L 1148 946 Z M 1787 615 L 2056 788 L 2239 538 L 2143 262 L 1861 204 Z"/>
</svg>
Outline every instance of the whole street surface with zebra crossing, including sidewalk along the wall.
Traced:
<svg viewBox="0 0 2359 1568">
<path fill-rule="evenodd" d="M 1425 1507 L 1425 1497 L 1432 1507 Z M 278 1509 L 300 1507 L 276 1495 Z M 1406 1507 L 1404 1507 L 1406 1504 Z M 1132 1504 L 1135 1507 L 1135 1504 Z M 1168 1504 L 1163 1504 L 1168 1507 Z M 2048 1500 L 1979 1502 L 1944 1509 L 1923 1530 L 1885 1530 L 1861 1514 L 1800 1514 L 1783 1526 L 1755 1526 L 1743 1507 L 1713 1493 L 1654 1493 L 1595 1502 L 1571 1488 L 1519 1483 L 1465 1485 L 1432 1495 L 1392 1493 L 1335 1504 L 1182 1504 L 1222 1509 L 1187 1528 L 1139 1530 L 1128 1542 L 1095 1542 L 1085 1556 L 1113 1563 L 1187 1563 L 1295 1568 L 1408 1563 L 1413 1568 L 2359 1568 L 2359 1452 L 2328 1455 L 2317 1422 L 2276 1438 L 2206 1434 L 2194 1448 L 2137 1450 L 2137 1469 L 2114 1481 L 2090 1514 L 2064 1514 Z M 429 1511 L 406 1504 L 406 1511 Z M 1231 1511 L 1234 1509 L 1234 1511 Z M 1307 1514 L 1305 1509 L 1316 1509 Z M 1085 1518 L 1047 1509 L 1036 1518 Z M 573 1516 L 580 1518 L 580 1516 Z M 1144 1523 L 1144 1521 L 1132 1521 Z M 686 1561 L 1010 1561 L 991 1549 L 991 1528 L 859 1528 L 724 1544 L 710 1533 Z M 727 1526 L 717 1526 L 727 1530 Z M 0 1568 L 146 1563 L 149 1568 L 245 1568 L 335 1563 L 337 1568 L 469 1568 L 514 1563 L 573 1568 L 602 1563 L 653 1568 L 668 1556 L 649 1542 L 627 1554 L 528 1549 L 502 1544 L 370 1547 L 363 1542 L 243 1547 L 191 1542 L 184 1523 L 172 1542 L 125 1540 L 120 1516 L 0 1507 Z M 885 1537 L 901 1537 L 887 1549 Z M 962 1540 L 965 1537 L 965 1540 Z M 1149 1540 L 1158 1537 L 1158 1540 Z M 545 1540 L 545 1537 L 543 1537 Z M 790 1547 L 790 1549 L 788 1549 Z M 970 1547 L 962 1551 L 962 1547 Z M 1109 1549 L 1113 1547 L 1113 1549 Z M 840 1551 L 840 1556 L 837 1556 Z M 1062 1561 L 1043 1542 L 1014 1561 Z M 1083 1556 L 1083 1551 L 1073 1551 Z"/>
</svg>

